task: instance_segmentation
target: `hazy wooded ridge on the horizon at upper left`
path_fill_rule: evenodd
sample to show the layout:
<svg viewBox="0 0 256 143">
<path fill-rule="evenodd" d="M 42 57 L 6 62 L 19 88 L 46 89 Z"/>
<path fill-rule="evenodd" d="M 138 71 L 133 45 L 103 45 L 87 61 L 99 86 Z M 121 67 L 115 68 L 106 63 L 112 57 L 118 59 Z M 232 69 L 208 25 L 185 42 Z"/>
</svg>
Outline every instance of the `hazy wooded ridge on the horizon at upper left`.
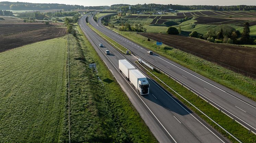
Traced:
<svg viewBox="0 0 256 143">
<path fill-rule="evenodd" d="M 109 6 L 83 6 L 83 5 L 69 5 L 58 3 L 28 3 L 28 2 L 0 2 L 0 9 L 2 10 L 84 10 L 84 9 L 108 9 Z"/>
</svg>

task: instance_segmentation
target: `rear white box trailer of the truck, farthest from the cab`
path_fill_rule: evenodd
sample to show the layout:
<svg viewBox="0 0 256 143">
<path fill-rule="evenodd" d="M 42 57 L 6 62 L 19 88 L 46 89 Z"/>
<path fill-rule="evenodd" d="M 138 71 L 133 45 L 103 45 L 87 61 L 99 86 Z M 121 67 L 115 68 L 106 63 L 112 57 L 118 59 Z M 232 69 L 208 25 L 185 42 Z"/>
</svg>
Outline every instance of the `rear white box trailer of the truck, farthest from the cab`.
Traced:
<svg viewBox="0 0 256 143">
<path fill-rule="evenodd" d="M 126 59 L 118 60 L 119 71 L 123 73 L 127 80 L 129 80 L 129 70 L 136 69 L 134 66 L 131 65 Z"/>
</svg>

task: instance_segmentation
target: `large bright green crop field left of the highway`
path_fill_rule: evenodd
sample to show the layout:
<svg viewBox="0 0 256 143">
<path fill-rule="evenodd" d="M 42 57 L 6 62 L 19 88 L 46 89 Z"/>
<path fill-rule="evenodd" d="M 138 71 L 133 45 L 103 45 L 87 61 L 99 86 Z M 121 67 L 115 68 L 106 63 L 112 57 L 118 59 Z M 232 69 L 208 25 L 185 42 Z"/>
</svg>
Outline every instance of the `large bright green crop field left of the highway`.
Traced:
<svg viewBox="0 0 256 143">
<path fill-rule="evenodd" d="M 0 53 L 0 139 L 62 142 L 66 118 L 66 39 Z"/>
</svg>

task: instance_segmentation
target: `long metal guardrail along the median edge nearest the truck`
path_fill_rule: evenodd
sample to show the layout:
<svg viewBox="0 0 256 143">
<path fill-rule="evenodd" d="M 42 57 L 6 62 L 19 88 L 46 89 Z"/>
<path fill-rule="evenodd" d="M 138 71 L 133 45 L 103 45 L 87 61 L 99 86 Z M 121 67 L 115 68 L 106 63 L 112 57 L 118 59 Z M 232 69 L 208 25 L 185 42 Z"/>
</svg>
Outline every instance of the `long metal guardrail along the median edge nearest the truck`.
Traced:
<svg viewBox="0 0 256 143">
<path fill-rule="evenodd" d="M 139 62 L 138 62 L 139 63 Z M 139 63 L 141 65 L 141 63 Z M 142 65 L 141 65 L 142 66 Z M 142 66 L 144 69 L 146 69 L 144 66 Z M 181 96 L 178 92 L 176 92 L 174 89 L 172 89 L 170 86 L 168 86 L 166 83 L 164 83 L 162 80 L 160 80 L 160 78 L 158 78 L 157 76 L 155 76 L 152 72 L 150 72 L 148 69 L 146 69 L 149 73 L 151 73 L 154 77 L 156 77 L 159 81 L 161 81 L 165 86 L 167 86 L 168 88 L 170 88 L 173 92 L 175 92 L 175 94 L 177 94 L 179 97 L 181 97 L 182 99 L 184 99 L 186 102 L 188 102 L 190 105 L 192 105 L 195 109 L 197 109 L 200 113 L 202 113 L 203 115 L 205 115 L 208 119 L 210 119 L 214 124 L 216 124 L 217 126 L 219 126 L 222 130 L 224 130 L 226 133 L 228 133 L 229 135 L 231 135 L 231 137 L 233 137 L 236 141 L 242 143 L 240 140 L 238 140 L 233 134 L 231 134 L 229 131 L 227 131 L 226 129 L 224 129 L 222 126 L 220 126 L 216 121 L 214 121 L 212 118 L 210 118 L 208 115 L 206 115 L 205 113 L 203 113 L 200 109 L 198 109 L 195 105 L 193 105 L 191 102 L 189 102 L 187 99 L 185 99 L 183 96 Z M 168 76 L 168 75 L 167 75 Z M 170 77 L 170 76 L 169 76 Z M 170 77 L 172 78 L 172 77 Z M 173 78 L 172 78 L 173 79 Z M 173 79 L 174 81 L 176 81 L 175 79 Z"/>
</svg>

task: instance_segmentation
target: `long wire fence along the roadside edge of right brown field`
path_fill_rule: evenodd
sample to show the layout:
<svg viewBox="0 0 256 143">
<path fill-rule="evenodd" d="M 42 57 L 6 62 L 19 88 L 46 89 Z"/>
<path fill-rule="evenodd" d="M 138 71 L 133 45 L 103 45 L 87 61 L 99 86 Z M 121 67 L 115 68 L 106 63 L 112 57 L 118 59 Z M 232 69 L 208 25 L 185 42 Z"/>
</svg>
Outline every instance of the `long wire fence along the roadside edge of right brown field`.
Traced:
<svg viewBox="0 0 256 143">
<path fill-rule="evenodd" d="M 154 38 L 154 37 L 151 37 L 151 36 L 149 36 L 149 35 L 145 35 L 145 34 L 143 34 L 143 33 L 140 33 L 140 34 L 143 35 L 143 36 L 145 36 L 145 37 L 148 37 L 148 38 L 151 38 L 151 39 L 153 39 L 153 40 L 156 40 L 156 41 L 162 41 L 162 40 L 156 39 L 156 38 Z M 233 66 L 230 66 L 230 65 L 228 65 L 228 64 L 225 64 L 225 63 L 220 62 L 220 61 L 218 61 L 218 60 L 215 60 L 215 59 L 212 59 L 212 58 L 203 56 L 203 55 L 201 55 L 201 54 L 195 53 L 195 52 L 190 51 L 190 50 L 188 50 L 188 49 L 185 49 L 185 48 L 176 46 L 176 45 L 174 45 L 174 44 L 171 44 L 171 43 L 168 43 L 168 42 L 164 42 L 164 41 L 162 41 L 162 42 L 163 42 L 164 44 L 166 44 L 166 45 L 171 45 L 172 47 L 174 47 L 174 48 L 176 48 L 176 49 L 182 50 L 182 51 L 184 51 L 184 52 L 186 52 L 186 53 L 190 53 L 190 54 L 192 54 L 192 55 L 195 55 L 195 56 L 200 57 L 200 58 L 202 58 L 202 59 L 205 59 L 205 60 L 207 60 L 207 61 L 216 63 L 216 64 L 218 64 L 218 65 L 220 65 L 220 66 L 222 66 L 222 67 L 224 67 L 224 68 L 227 68 L 227 69 L 229 69 L 229 70 L 232 70 L 232 71 L 234 71 L 234 72 L 236 72 L 236 73 L 240 73 L 240 74 L 243 74 L 244 76 L 247 76 L 247 77 L 251 77 L 251 78 L 256 79 L 256 75 L 253 74 L 253 73 L 249 73 L 249 72 L 247 72 L 247 71 L 244 71 L 244 70 L 235 68 L 235 67 L 233 67 Z"/>
</svg>

